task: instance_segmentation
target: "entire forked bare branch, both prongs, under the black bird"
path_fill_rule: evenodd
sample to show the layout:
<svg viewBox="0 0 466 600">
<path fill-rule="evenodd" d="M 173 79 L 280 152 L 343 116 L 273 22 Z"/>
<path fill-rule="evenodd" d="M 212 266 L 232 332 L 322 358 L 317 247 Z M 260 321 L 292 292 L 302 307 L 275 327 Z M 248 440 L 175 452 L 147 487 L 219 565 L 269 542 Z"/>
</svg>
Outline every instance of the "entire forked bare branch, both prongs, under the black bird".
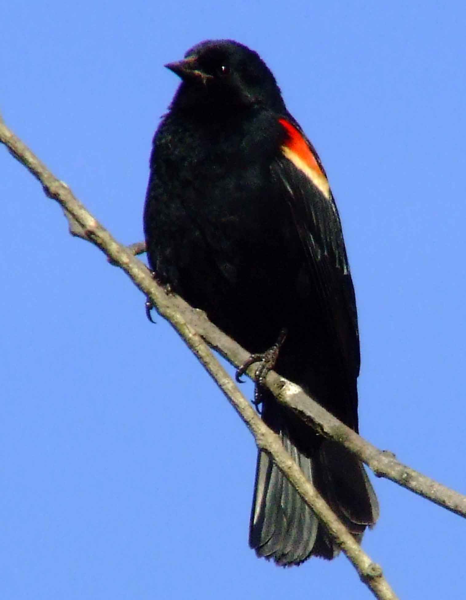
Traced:
<svg viewBox="0 0 466 600">
<path fill-rule="evenodd" d="M 330 534 L 374 595 L 382 600 L 396 599 L 395 593 L 383 577 L 380 566 L 372 562 L 369 556 L 363 552 L 353 536 L 348 533 L 315 488 L 303 476 L 299 467 L 283 448 L 279 437 L 264 425 L 246 398 L 236 388 L 232 378 L 218 364 L 218 361 L 215 361 L 205 341 L 236 366 L 245 361 L 248 353 L 215 328 L 202 311 L 189 307 L 181 298 L 167 296 L 164 289 L 154 281 L 148 268 L 134 258 L 131 251 L 118 244 L 110 233 L 86 211 L 85 207 L 74 197 L 70 188 L 64 182 L 56 179 L 3 122 L 0 122 L 0 141 L 41 182 L 47 196 L 59 202 L 70 222 L 72 235 L 80 236 L 97 245 L 109 257 L 110 262 L 120 266 L 129 275 L 136 286 L 151 299 L 158 312 L 175 327 L 229 398 L 254 435 L 258 447 L 272 455 L 279 469 L 296 487 L 300 496 L 308 503 L 318 518 L 326 524 Z M 254 378 L 254 368 L 249 368 L 248 374 Z M 457 514 L 466 515 L 466 497 L 402 465 L 395 460 L 393 455 L 379 451 L 350 428 L 345 427 L 330 413 L 327 413 L 294 383 L 271 372 L 267 376 L 266 384 L 281 403 L 290 406 L 322 435 L 341 442 L 368 464 L 376 475 L 392 479 L 392 481 L 398 482 Z"/>
</svg>

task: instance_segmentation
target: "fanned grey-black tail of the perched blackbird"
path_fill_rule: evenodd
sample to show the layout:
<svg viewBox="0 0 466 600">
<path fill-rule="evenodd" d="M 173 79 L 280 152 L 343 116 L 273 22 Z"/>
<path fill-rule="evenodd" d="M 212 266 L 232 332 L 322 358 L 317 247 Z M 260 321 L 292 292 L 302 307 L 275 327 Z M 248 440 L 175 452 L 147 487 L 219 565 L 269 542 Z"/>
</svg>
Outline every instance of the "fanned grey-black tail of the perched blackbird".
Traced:
<svg viewBox="0 0 466 600">
<path fill-rule="evenodd" d="M 294 419 L 291 438 L 284 409 L 276 401 L 273 404 L 273 410 L 264 407 L 264 421 L 281 436 L 306 478 L 360 541 L 366 527 L 378 518 L 377 497 L 362 463 L 343 446 L 317 437 Z M 273 558 L 281 566 L 299 565 L 311 555 L 332 559 L 339 552 L 326 528 L 264 451 L 257 458 L 249 545 L 258 556 Z"/>
</svg>

